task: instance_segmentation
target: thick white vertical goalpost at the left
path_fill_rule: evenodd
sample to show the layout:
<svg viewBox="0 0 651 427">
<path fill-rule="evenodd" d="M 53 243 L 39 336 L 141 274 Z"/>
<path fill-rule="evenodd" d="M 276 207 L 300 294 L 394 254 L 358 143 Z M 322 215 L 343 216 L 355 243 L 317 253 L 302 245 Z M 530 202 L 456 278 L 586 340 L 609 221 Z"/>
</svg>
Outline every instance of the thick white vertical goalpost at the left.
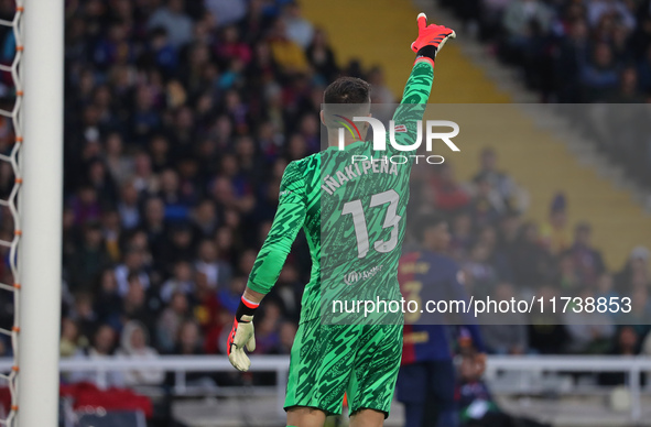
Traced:
<svg viewBox="0 0 651 427">
<path fill-rule="evenodd" d="M 23 143 L 19 156 L 22 187 L 14 426 L 55 427 L 62 281 L 64 1 L 17 3 L 24 8 L 19 25 L 24 43 L 19 69 L 23 102 L 18 122 Z"/>
</svg>

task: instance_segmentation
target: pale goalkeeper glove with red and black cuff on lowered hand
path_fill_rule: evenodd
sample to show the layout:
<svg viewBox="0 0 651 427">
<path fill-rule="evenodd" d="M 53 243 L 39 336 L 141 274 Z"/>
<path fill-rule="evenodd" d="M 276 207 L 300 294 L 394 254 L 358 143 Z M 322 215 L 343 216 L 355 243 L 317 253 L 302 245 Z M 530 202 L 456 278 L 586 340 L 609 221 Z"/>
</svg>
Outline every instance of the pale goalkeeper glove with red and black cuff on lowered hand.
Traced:
<svg viewBox="0 0 651 427">
<path fill-rule="evenodd" d="M 237 370 L 246 372 L 251 366 L 251 361 L 245 353 L 245 347 L 249 351 L 256 350 L 256 337 L 253 335 L 253 315 L 260 304 L 251 303 L 242 296 L 240 305 L 235 314 L 232 329 L 228 335 L 228 360 Z"/>
</svg>

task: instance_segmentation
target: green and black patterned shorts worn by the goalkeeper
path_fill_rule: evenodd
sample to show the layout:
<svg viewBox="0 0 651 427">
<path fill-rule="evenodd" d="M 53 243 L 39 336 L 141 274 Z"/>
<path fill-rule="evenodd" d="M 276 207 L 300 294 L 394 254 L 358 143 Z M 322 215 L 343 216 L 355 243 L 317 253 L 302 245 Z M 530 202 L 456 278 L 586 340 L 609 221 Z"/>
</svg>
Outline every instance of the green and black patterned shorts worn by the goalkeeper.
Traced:
<svg viewBox="0 0 651 427">
<path fill-rule="evenodd" d="M 402 325 L 299 326 L 290 359 L 284 408 L 307 406 L 341 414 L 376 409 L 389 416 L 402 355 Z"/>
</svg>

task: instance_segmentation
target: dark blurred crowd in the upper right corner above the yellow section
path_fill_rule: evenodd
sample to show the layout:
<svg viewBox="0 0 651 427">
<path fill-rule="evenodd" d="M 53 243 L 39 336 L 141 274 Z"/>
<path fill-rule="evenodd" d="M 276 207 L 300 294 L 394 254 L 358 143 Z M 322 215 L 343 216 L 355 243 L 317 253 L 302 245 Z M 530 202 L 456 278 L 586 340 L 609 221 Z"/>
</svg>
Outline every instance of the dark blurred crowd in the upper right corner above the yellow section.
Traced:
<svg viewBox="0 0 651 427">
<path fill-rule="evenodd" d="M 514 66 L 543 102 L 651 101 L 650 0 L 438 2 L 452 8 L 489 52 Z M 575 119 L 587 133 L 597 128 L 596 139 L 604 140 L 599 149 L 651 189 L 649 109 L 626 108 L 625 118 L 643 116 L 636 119 L 634 135 L 618 134 L 631 123 L 614 114 Z"/>
</svg>

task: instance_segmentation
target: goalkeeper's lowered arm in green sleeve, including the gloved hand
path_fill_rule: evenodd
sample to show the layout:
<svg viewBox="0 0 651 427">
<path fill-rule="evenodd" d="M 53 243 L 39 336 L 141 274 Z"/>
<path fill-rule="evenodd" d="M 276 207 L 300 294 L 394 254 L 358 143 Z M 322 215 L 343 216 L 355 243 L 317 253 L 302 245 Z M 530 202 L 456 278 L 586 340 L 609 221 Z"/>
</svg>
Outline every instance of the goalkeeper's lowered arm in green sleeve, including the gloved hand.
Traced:
<svg viewBox="0 0 651 427">
<path fill-rule="evenodd" d="M 253 316 L 260 302 L 271 291 L 285 263 L 292 243 L 305 221 L 305 183 L 297 163 L 285 168 L 280 185 L 275 218 L 251 274 L 228 335 L 227 352 L 230 363 L 240 371 L 248 371 L 251 362 L 245 353 L 256 350 Z"/>
</svg>

